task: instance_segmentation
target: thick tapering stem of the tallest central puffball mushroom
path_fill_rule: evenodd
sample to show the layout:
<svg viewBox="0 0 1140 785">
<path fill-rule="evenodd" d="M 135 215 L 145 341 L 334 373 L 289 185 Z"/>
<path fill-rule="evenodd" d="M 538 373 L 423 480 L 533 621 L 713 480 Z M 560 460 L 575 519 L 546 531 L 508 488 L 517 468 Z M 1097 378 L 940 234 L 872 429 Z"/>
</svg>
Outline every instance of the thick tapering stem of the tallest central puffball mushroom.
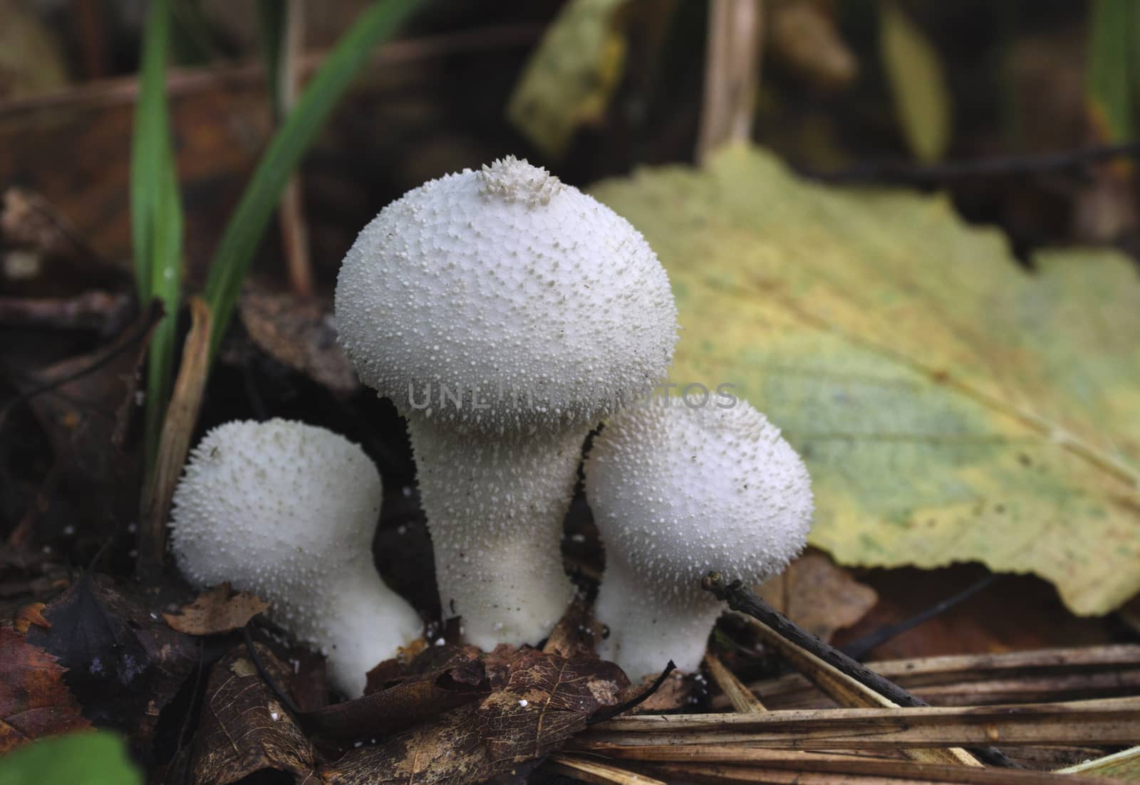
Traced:
<svg viewBox="0 0 1140 785">
<path fill-rule="evenodd" d="M 573 597 L 562 523 L 588 431 L 492 438 L 408 417 L 443 616 L 475 646 L 538 643 Z"/>
</svg>

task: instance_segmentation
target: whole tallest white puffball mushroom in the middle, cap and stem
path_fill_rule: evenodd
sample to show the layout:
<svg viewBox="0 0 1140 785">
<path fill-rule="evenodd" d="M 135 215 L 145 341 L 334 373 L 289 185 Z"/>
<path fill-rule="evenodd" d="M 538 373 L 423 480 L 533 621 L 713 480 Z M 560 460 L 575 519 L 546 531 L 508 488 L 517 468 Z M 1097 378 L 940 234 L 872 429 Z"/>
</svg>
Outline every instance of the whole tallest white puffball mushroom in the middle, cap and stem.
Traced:
<svg viewBox="0 0 1140 785">
<path fill-rule="evenodd" d="M 445 615 L 482 648 L 537 643 L 573 594 L 583 441 L 670 362 L 665 269 L 609 207 L 507 157 L 384 207 L 335 306 L 360 379 L 408 420 Z"/>
</svg>

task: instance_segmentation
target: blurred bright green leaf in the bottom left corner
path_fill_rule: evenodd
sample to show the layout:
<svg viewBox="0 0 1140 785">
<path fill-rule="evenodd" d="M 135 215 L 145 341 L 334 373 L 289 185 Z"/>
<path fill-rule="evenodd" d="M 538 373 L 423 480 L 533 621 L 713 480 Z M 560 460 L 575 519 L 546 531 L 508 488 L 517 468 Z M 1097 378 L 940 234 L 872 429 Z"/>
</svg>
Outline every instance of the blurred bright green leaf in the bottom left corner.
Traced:
<svg viewBox="0 0 1140 785">
<path fill-rule="evenodd" d="M 105 730 L 41 738 L 0 758 L 0 785 L 142 785 L 127 744 Z"/>
</svg>

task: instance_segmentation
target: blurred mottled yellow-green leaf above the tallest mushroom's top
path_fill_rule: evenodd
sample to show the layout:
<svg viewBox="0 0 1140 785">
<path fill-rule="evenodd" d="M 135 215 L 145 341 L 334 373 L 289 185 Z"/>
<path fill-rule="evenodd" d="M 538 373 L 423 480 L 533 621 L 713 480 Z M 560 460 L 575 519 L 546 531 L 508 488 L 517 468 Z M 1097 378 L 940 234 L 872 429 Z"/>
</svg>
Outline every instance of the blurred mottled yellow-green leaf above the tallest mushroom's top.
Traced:
<svg viewBox="0 0 1140 785">
<path fill-rule="evenodd" d="M 531 55 L 507 117 L 547 155 L 561 156 L 578 126 L 598 120 L 625 67 L 614 18 L 626 0 L 571 0 Z"/>
</svg>

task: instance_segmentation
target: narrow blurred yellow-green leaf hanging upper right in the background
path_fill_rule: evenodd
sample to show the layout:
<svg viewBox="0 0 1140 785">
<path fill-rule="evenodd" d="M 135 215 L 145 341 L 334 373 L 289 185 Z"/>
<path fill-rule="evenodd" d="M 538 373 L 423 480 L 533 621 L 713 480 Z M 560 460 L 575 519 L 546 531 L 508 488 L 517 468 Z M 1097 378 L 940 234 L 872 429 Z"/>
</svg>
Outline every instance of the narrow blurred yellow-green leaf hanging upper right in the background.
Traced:
<svg viewBox="0 0 1140 785">
<path fill-rule="evenodd" d="M 911 153 L 938 161 L 950 146 L 950 89 L 938 50 L 896 2 L 879 3 L 879 56 Z"/>
</svg>

